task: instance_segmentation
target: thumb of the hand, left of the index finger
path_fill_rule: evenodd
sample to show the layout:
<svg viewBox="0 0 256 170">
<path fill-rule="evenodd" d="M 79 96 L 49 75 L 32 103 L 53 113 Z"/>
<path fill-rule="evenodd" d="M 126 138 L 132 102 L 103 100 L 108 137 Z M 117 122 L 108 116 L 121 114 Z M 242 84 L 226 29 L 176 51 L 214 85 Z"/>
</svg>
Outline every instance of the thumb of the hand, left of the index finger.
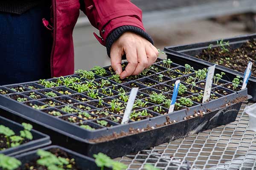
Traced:
<svg viewBox="0 0 256 170">
<path fill-rule="evenodd" d="M 115 46 L 112 46 L 110 52 L 110 59 L 111 59 L 111 67 L 116 72 L 116 74 L 120 75 L 122 73 L 122 54 L 121 50 Z"/>
</svg>

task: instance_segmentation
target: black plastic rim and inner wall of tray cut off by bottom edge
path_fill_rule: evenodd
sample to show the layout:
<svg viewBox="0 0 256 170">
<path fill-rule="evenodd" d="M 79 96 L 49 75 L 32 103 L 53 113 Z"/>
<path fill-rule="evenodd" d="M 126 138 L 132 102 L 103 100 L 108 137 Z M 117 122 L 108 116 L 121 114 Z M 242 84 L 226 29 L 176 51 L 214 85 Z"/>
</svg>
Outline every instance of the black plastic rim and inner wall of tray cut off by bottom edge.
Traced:
<svg viewBox="0 0 256 170">
<path fill-rule="evenodd" d="M 72 158 L 75 159 L 76 161 L 76 166 L 79 170 L 99 170 L 99 167 L 96 166 L 95 160 L 91 159 L 87 156 L 81 155 L 79 153 L 73 152 L 72 150 L 68 150 L 64 147 L 60 147 L 60 146 L 49 146 L 49 147 L 44 147 L 41 148 L 42 150 L 61 150 L 64 151 L 65 153 L 67 153 L 67 155 Z M 39 159 L 39 156 L 36 154 L 37 150 L 33 150 L 27 153 L 23 153 L 20 155 L 15 156 L 16 159 L 21 161 L 21 166 L 20 168 L 24 168 L 26 163 L 29 163 L 31 161 L 34 161 L 36 159 Z"/>
</svg>

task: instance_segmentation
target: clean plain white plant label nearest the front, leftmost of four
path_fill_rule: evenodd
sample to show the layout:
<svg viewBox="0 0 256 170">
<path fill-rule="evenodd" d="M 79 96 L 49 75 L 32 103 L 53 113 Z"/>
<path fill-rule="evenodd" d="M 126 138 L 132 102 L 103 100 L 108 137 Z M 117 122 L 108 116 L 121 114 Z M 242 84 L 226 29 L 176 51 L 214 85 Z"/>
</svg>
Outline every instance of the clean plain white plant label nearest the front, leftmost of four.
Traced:
<svg viewBox="0 0 256 170">
<path fill-rule="evenodd" d="M 125 124 L 125 123 L 129 122 L 129 117 L 130 117 L 130 114 L 131 114 L 131 111 L 132 111 L 132 108 L 133 108 L 134 101 L 136 99 L 138 90 L 139 90 L 139 88 L 132 88 L 131 89 L 131 93 L 130 93 L 130 96 L 129 96 L 129 99 L 128 99 L 128 102 L 127 102 L 127 105 L 126 105 L 126 108 L 125 108 L 125 113 L 124 113 L 121 124 Z"/>
</svg>

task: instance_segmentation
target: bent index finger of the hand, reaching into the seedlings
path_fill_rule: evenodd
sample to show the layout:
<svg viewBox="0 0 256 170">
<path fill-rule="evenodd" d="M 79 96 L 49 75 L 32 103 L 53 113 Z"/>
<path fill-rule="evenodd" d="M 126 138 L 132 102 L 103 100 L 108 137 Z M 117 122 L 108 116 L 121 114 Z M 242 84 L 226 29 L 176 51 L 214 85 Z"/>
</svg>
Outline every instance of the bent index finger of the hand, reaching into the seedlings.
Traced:
<svg viewBox="0 0 256 170">
<path fill-rule="evenodd" d="M 120 79 L 131 76 L 138 65 L 137 50 L 135 47 L 129 48 L 129 51 L 125 51 L 125 53 L 128 65 L 126 66 L 125 71 L 120 74 Z"/>
</svg>

